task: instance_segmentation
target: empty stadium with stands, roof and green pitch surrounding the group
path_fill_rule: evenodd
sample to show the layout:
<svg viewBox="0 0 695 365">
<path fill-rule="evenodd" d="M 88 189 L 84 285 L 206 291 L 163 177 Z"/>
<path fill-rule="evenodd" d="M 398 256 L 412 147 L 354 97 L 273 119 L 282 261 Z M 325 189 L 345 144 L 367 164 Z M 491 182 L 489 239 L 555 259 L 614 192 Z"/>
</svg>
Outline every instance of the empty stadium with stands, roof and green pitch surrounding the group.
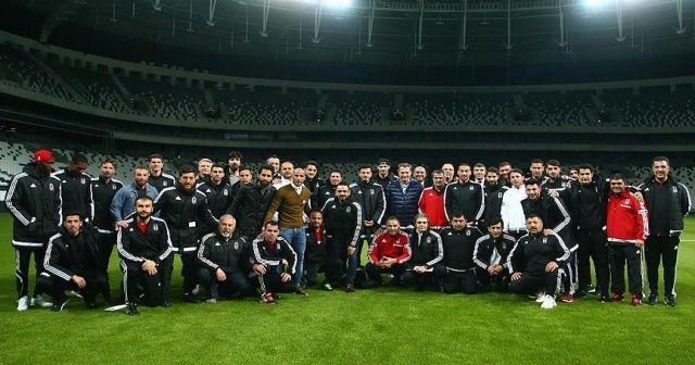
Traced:
<svg viewBox="0 0 695 365">
<path fill-rule="evenodd" d="M 318 161 L 355 181 L 389 159 L 427 167 L 591 163 L 631 185 L 668 156 L 695 193 L 695 4 L 686 0 L 7 0 L 0 12 L 0 198 L 34 153 L 86 173 L 148 155 L 173 175 L 241 151 Z M 540 311 L 509 293 L 312 289 L 282 303 L 179 300 L 139 317 L 17 312 L 0 206 L 0 363 L 695 363 L 695 240 L 679 305 Z M 366 250 L 363 251 L 366 256 Z M 34 270 L 34 264 L 31 264 Z M 118 257 L 110 275 L 121 278 Z M 30 275 L 34 280 L 34 273 Z M 115 285 L 112 282 L 115 292 Z M 645 278 L 645 292 L 647 291 Z"/>
</svg>

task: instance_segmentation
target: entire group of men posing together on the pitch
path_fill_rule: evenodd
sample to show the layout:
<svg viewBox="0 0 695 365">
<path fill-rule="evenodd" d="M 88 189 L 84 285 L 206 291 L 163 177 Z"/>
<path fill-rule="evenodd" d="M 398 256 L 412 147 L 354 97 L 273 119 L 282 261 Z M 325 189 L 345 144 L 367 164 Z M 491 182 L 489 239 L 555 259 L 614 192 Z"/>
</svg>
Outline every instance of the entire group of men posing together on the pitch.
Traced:
<svg viewBox="0 0 695 365">
<path fill-rule="evenodd" d="M 111 301 L 114 246 L 131 315 L 138 303 L 170 305 L 174 254 L 182 299 L 192 303 L 203 292 L 207 303 L 260 294 L 267 304 L 278 292 L 307 295 L 311 287 L 351 293 L 379 287 L 388 275 L 394 287 L 509 290 L 552 309 L 556 297 L 572 302 L 592 290 L 603 302 L 622 301 L 626 263 L 630 303 L 640 305 L 644 250 L 648 304 L 658 302 L 662 265 L 665 303 L 677 305 L 678 244 L 691 201 L 667 158 L 655 158 L 653 176 L 633 187 L 620 174 L 602 179 L 591 165 L 564 176 L 555 160 L 532 160 L 528 175 L 508 162 L 446 163 L 430 180 L 422 165 L 401 163 L 394 175 L 381 159 L 376 168 L 359 165 L 349 184 L 337 169 L 321 180 L 315 161 L 295 166 L 271 155 L 253 172 L 241 159 L 237 151 L 224 164 L 200 159 L 174 177 L 152 154 L 124 185 L 113 178 L 113 160 L 91 178 L 79 153 L 53 171 L 51 151 L 35 152 L 5 201 L 14 217 L 17 310 L 62 311 L 66 290 L 89 307 L 99 294 Z"/>
</svg>

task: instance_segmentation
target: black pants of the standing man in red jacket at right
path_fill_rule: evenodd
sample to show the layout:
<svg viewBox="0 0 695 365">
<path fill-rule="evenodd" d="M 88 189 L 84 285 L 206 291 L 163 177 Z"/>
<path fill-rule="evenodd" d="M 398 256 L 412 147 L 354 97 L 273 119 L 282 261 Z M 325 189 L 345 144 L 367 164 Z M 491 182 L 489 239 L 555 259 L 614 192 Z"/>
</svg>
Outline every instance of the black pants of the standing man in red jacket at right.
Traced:
<svg viewBox="0 0 695 365">
<path fill-rule="evenodd" d="M 642 250 L 634 244 L 609 244 L 610 290 L 616 294 L 626 292 L 626 262 L 628 263 L 628 285 L 630 293 L 642 299 Z"/>
</svg>

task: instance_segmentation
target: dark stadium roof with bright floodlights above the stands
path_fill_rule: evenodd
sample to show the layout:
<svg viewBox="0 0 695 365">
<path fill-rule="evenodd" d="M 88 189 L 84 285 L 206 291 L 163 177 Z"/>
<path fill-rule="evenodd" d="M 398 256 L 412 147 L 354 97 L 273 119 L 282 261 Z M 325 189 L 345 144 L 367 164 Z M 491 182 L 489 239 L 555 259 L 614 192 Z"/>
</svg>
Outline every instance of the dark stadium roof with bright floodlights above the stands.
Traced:
<svg viewBox="0 0 695 365">
<path fill-rule="evenodd" d="M 103 32 L 275 60 L 451 65 L 643 58 L 693 53 L 695 37 L 693 3 L 683 0 L 9 2 L 15 12 L 37 14 L 42 41 L 71 35 L 78 42 L 79 33 Z"/>
</svg>

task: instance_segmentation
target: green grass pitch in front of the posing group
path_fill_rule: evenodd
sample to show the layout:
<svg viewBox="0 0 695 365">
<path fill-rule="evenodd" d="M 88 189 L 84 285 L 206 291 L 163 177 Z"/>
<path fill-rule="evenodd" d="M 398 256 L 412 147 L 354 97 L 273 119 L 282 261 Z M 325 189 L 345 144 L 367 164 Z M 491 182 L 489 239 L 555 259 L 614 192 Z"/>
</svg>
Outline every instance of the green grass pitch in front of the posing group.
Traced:
<svg viewBox="0 0 695 365">
<path fill-rule="evenodd" d="M 62 313 L 16 312 L 11 217 L 0 214 L 0 364 L 695 364 L 695 219 L 686 225 L 674 309 L 589 295 L 542 311 L 513 294 L 391 288 L 288 293 L 277 305 L 188 304 L 176 259 L 173 306 L 141 306 L 129 317 L 87 310 L 76 298 Z M 110 272 L 115 286 L 115 254 Z"/>
</svg>

